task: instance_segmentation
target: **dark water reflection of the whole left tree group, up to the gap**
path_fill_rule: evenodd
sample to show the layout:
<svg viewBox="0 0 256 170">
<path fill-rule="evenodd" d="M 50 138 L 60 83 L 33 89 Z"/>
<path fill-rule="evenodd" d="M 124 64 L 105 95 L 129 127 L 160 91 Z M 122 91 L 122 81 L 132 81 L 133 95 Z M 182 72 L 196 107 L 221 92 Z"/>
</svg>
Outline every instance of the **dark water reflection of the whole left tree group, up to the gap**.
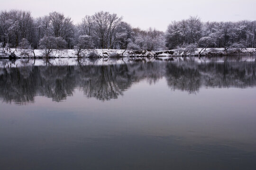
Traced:
<svg viewBox="0 0 256 170">
<path fill-rule="evenodd" d="M 36 95 L 60 102 L 78 87 L 87 97 L 110 100 L 141 79 L 155 82 L 159 68 L 159 63 L 2 68 L 0 96 L 18 104 L 33 102 Z"/>
</svg>

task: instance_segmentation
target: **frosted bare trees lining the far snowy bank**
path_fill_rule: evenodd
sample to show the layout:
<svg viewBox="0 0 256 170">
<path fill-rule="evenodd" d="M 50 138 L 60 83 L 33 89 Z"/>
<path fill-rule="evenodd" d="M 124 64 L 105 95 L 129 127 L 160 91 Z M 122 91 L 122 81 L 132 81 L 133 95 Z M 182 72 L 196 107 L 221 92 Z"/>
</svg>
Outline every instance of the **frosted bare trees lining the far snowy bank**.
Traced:
<svg viewBox="0 0 256 170">
<path fill-rule="evenodd" d="M 31 12 L 0 12 L 0 46 L 45 49 L 171 50 L 201 48 L 256 48 L 256 21 L 201 22 L 199 17 L 173 21 L 165 32 L 141 30 L 109 12 L 85 16 L 79 24 L 59 12 L 34 18 Z"/>
</svg>

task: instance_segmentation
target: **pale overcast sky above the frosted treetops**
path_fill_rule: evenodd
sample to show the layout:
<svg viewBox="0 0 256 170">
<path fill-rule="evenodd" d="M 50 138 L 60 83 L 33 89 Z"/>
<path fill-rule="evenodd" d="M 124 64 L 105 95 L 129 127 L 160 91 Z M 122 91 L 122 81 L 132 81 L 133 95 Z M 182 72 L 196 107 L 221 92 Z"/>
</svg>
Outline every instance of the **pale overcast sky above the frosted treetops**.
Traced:
<svg viewBox="0 0 256 170">
<path fill-rule="evenodd" d="M 109 11 L 134 27 L 165 31 L 174 20 L 198 16 L 202 21 L 256 20 L 256 0 L 0 0 L 0 10 L 29 10 L 32 16 L 64 13 L 76 24 L 85 15 Z"/>
</svg>

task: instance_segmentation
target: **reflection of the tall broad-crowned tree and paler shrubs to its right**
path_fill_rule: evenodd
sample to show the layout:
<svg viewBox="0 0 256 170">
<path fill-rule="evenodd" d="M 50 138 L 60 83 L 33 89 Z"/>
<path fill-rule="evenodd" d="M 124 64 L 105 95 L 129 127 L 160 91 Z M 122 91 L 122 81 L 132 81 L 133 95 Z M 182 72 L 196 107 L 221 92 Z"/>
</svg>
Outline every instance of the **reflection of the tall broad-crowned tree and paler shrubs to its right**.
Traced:
<svg viewBox="0 0 256 170">
<path fill-rule="evenodd" d="M 107 66 L 83 66 L 79 75 L 87 97 L 110 100 L 123 95 L 134 82 L 143 78 L 159 79 L 158 63 L 134 63 Z M 152 66 L 155 65 L 155 66 Z M 159 65 L 159 64 L 158 64 Z M 155 74 L 154 74 L 155 73 Z"/>
</svg>

